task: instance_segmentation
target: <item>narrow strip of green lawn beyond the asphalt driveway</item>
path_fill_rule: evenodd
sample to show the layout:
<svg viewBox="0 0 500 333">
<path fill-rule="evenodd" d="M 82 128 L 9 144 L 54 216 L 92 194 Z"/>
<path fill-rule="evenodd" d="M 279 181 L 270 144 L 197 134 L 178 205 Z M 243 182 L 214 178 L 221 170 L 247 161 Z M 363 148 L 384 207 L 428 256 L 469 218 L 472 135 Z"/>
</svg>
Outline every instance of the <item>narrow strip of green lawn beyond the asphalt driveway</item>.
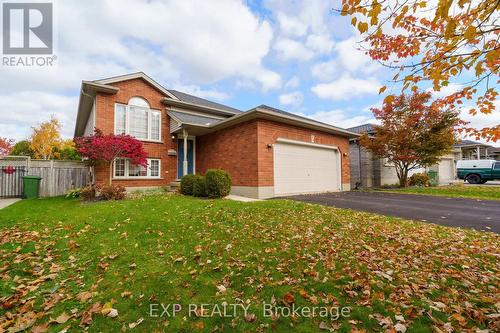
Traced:
<svg viewBox="0 0 500 333">
<path fill-rule="evenodd" d="M 500 186 L 450 185 L 434 187 L 407 187 L 384 190 L 388 192 L 439 195 L 444 197 L 500 200 Z"/>
</svg>

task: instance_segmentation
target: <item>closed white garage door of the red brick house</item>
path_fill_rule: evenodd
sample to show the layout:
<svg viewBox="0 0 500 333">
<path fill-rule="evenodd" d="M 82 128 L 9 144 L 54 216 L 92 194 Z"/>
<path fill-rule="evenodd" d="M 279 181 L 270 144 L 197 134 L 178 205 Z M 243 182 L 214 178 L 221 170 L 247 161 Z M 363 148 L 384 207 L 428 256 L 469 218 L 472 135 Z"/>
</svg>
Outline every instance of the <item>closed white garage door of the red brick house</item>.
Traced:
<svg viewBox="0 0 500 333">
<path fill-rule="evenodd" d="M 339 153 L 334 147 L 278 141 L 274 145 L 274 194 L 340 191 Z"/>
</svg>

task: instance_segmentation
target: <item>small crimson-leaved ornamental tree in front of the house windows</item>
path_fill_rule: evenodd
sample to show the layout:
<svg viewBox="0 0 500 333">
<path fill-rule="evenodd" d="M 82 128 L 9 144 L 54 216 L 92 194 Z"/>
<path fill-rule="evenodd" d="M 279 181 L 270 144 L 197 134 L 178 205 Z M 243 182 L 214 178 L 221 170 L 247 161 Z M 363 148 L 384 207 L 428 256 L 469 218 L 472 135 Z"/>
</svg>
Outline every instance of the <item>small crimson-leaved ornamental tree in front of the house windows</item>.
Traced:
<svg viewBox="0 0 500 333">
<path fill-rule="evenodd" d="M 121 158 L 128 158 L 134 165 L 147 167 L 147 154 L 142 142 L 125 134 L 103 134 L 95 129 L 94 135 L 74 139 L 76 150 L 90 165 L 106 163 L 109 167 L 109 184 L 113 177 L 113 163 Z"/>
</svg>

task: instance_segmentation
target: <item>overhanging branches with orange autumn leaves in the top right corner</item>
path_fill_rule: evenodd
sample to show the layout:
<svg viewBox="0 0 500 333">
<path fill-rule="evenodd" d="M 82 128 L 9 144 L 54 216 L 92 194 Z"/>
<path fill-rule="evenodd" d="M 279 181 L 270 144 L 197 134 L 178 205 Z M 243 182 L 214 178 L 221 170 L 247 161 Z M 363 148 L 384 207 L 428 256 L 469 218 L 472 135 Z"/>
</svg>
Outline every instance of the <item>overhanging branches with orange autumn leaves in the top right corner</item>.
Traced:
<svg viewBox="0 0 500 333">
<path fill-rule="evenodd" d="M 459 84 L 444 102 L 454 107 L 470 100 L 475 106 L 469 113 L 476 115 L 498 112 L 499 8 L 499 0 L 342 0 L 340 12 L 352 17 L 367 53 L 393 69 L 393 81 L 403 89 L 417 91 L 430 83 L 440 91 Z M 461 131 L 476 139 L 500 139 L 500 125 Z"/>
</svg>

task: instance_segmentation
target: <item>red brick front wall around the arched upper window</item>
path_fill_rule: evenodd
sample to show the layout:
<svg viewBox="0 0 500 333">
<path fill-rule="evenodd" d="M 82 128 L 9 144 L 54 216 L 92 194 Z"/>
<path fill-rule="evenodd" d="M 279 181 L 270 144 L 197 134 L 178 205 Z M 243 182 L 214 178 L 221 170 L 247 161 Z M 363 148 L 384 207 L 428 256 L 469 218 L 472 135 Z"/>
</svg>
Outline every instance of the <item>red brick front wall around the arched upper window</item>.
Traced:
<svg viewBox="0 0 500 333">
<path fill-rule="evenodd" d="M 116 94 L 100 93 L 96 96 L 96 127 L 104 133 L 114 132 L 115 103 L 127 104 L 129 99 L 137 96 L 148 101 L 150 107 L 162 110 L 161 113 L 161 139 L 162 143 L 143 141 L 144 149 L 149 158 L 161 159 L 160 179 L 120 179 L 113 180 L 113 184 L 123 186 L 161 186 L 168 185 L 177 177 L 177 157 L 168 156 L 169 149 L 176 149 L 175 142 L 170 135 L 170 118 L 167 116 L 166 107 L 161 103 L 165 97 L 158 90 L 141 79 L 133 79 L 112 84 L 120 88 Z M 102 165 L 96 167 L 96 182 L 107 183 L 109 179 L 109 168 Z"/>
</svg>

